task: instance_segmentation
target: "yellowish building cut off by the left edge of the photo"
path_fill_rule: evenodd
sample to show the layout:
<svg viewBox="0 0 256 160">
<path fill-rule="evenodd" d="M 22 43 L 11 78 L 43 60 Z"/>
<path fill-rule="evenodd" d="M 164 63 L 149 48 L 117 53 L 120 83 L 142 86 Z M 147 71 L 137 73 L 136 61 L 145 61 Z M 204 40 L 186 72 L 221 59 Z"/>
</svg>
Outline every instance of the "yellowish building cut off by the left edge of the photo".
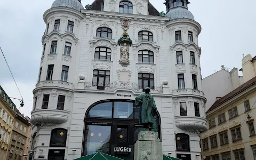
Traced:
<svg viewBox="0 0 256 160">
<path fill-rule="evenodd" d="M 16 106 L 0 86 L 0 160 L 5 160 L 10 147 L 10 139 Z"/>
</svg>

